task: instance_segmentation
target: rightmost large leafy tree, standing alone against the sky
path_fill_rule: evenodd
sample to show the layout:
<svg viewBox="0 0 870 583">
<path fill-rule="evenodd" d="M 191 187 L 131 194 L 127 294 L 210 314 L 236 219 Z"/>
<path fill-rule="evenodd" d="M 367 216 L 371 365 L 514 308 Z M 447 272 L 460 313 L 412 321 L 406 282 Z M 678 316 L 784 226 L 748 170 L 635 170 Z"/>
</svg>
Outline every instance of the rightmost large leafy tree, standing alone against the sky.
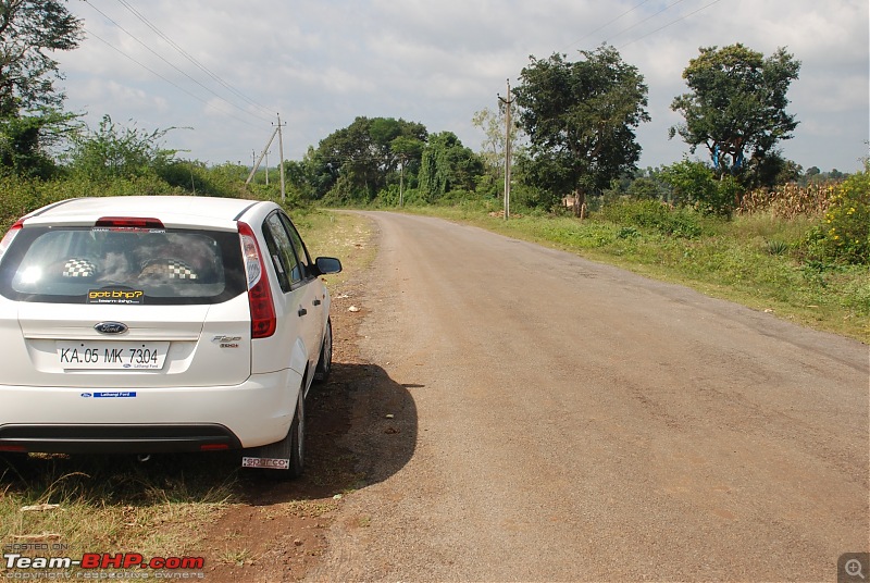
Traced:
<svg viewBox="0 0 870 583">
<path fill-rule="evenodd" d="M 685 122 L 671 127 L 670 137 L 679 134 L 693 153 L 705 146 L 718 176 L 731 173 L 751 182 L 750 166 L 769 169 L 766 159 L 778 156 L 776 142 L 792 138 L 797 127 L 785 108 L 799 71 L 800 62 L 783 48 L 767 59 L 741 44 L 701 48 L 683 71 L 689 92 L 671 103 Z"/>
</svg>

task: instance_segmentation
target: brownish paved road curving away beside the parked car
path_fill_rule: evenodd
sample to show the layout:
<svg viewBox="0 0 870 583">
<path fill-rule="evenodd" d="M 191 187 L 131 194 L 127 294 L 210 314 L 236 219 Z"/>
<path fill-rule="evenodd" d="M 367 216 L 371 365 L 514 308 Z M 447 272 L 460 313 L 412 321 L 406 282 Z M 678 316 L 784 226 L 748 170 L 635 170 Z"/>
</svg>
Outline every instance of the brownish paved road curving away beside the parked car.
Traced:
<svg viewBox="0 0 870 583">
<path fill-rule="evenodd" d="M 870 352 L 445 221 L 380 231 L 348 495 L 310 580 L 835 581 Z M 388 418 L 387 415 L 393 415 Z"/>
</svg>

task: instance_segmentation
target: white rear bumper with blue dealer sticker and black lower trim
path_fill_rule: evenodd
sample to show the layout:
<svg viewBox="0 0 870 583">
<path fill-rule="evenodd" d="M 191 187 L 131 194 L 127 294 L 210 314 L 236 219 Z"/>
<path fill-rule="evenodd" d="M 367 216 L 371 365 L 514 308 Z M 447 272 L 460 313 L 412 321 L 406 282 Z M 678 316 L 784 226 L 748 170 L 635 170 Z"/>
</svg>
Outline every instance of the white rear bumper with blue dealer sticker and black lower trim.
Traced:
<svg viewBox="0 0 870 583">
<path fill-rule="evenodd" d="M 0 450 L 157 454 L 268 445 L 287 435 L 301 384 L 285 369 L 235 386 L 0 385 Z"/>
</svg>

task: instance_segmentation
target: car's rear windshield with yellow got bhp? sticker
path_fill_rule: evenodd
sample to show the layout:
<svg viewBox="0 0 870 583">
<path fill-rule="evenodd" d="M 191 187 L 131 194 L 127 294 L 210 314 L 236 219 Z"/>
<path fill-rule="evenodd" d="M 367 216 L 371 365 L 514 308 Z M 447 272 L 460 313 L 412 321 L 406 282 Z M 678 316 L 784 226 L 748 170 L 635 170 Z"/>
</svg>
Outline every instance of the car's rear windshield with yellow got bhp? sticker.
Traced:
<svg viewBox="0 0 870 583">
<path fill-rule="evenodd" d="M 0 294 L 53 303 L 217 303 L 245 292 L 238 234 L 28 227 L 0 263 Z"/>
</svg>

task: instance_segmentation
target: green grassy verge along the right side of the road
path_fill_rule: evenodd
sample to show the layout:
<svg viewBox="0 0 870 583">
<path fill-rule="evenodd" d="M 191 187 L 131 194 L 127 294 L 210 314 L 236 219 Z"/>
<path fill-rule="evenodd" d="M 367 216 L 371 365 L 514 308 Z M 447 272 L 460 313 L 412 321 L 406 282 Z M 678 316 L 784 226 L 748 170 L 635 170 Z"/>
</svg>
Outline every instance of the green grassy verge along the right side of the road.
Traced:
<svg viewBox="0 0 870 583">
<path fill-rule="evenodd" d="M 691 237 L 626 226 L 601 218 L 523 215 L 505 221 L 476 204 L 410 212 L 461 221 L 510 237 L 563 249 L 709 296 L 870 344 L 870 266 L 835 265 L 806 257 L 817 223 L 770 215 L 721 221 L 695 216 Z"/>
</svg>

